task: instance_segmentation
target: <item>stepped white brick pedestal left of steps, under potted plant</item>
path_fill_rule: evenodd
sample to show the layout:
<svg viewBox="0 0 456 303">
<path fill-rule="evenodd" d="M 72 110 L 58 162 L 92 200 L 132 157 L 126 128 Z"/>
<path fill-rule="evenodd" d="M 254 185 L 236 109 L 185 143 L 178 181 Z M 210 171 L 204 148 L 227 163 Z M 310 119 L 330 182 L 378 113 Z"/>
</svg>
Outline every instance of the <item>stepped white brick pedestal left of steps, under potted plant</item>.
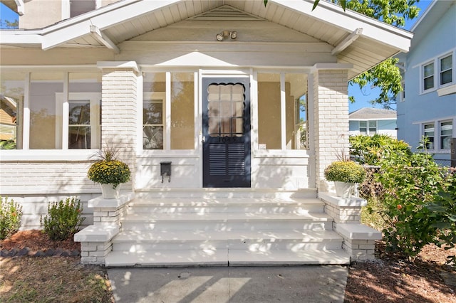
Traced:
<svg viewBox="0 0 456 303">
<path fill-rule="evenodd" d="M 93 208 L 93 225 L 74 235 L 74 241 L 81 242 L 81 263 L 105 264 L 106 255 L 113 250 L 111 240 L 120 232 L 125 206 L 133 198 L 132 192 L 121 193 L 115 199 L 99 196 L 88 201 L 88 208 Z"/>
</svg>

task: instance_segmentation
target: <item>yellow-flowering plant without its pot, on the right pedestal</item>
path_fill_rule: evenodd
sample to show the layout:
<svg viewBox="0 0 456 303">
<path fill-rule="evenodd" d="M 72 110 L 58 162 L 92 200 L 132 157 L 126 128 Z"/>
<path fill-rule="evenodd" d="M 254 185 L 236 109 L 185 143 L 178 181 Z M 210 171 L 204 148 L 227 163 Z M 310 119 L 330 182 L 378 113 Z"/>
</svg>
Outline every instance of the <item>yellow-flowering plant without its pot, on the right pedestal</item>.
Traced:
<svg viewBox="0 0 456 303">
<path fill-rule="evenodd" d="M 366 178 L 366 170 L 354 161 L 335 161 L 326 167 L 325 178 L 328 181 L 362 183 Z"/>
</svg>

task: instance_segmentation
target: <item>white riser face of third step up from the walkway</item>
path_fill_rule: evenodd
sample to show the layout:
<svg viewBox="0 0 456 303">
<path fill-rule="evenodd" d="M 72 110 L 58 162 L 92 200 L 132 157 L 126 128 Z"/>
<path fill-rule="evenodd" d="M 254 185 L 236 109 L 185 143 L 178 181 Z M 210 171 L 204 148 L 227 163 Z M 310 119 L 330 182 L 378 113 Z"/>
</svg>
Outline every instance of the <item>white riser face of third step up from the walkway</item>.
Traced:
<svg viewBox="0 0 456 303">
<path fill-rule="evenodd" d="M 331 230 L 332 224 L 320 221 L 305 221 L 305 220 L 279 220 L 271 222 L 267 220 L 256 220 L 254 222 L 220 222 L 207 220 L 192 220 L 192 221 L 160 221 L 155 223 L 137 222 L 124 220 L 122 230 Z"/>
</svg>

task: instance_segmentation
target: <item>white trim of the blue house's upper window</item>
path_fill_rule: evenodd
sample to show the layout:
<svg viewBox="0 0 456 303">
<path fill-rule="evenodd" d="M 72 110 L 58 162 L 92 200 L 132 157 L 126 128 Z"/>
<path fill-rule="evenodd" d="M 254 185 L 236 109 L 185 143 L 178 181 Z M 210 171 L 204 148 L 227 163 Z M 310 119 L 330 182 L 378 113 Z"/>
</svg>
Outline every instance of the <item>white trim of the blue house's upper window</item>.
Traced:
<svg viewBox="0 0 456 303">
<path fill-rule="evenodd" d="M 442 73 L 442 70 L 440 69 L 440 60 L 443 58 L 447 58 L 448 56 L 452 56 L 452 78 L 451 82 L 441 84 L 440 83 L 440 73 Z M 432 87 L 428 88 L 425 90 L 425 66 L 433 64 L 433 74 L 428 75 L 429 77 L 433 77 L 433 83 Z M 447 95 L 450 91 L 453 92 L 456 90 L 456 48 L 452 50 L 448 50 L 445 53 L 442 53 L 440 55 L 435 56 L 434 58 L 431 58 L 430 60 L 426 60 L 423 63 L 420 63 L 418 65 L 415 65 L 413 68 L 420 67 L 420 95 L 423 95 L 427 92 L 433 92 L 437 90 L 437 93 L 440 95 Z M 445 71 L 445 70 L 443 70 Z"/>
</svg>

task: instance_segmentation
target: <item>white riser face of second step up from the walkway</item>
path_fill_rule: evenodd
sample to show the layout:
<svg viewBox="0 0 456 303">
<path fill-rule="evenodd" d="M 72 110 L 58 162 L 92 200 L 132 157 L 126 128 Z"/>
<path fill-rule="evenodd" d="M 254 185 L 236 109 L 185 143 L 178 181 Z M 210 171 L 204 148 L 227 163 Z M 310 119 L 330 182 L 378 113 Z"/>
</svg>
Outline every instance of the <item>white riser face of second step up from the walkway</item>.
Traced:
<svg viewBox="0 0 456 303">
<path fill-rule="evenodd" d="M 341 249 L 342 240 L 322 240 L 321 242 L 303 243 L 300 240 L 279 240 L 279 242 L 255 240 L 208 240 L 191 241 L 184 243 L 113 243 L 113 251 L 147 252 L 158 251 L 166 253 L 167 250 L 246 250 L 251 252 L 267 252 L 274 250 L 305 251 L 314 249 Z"/>
</svg>

